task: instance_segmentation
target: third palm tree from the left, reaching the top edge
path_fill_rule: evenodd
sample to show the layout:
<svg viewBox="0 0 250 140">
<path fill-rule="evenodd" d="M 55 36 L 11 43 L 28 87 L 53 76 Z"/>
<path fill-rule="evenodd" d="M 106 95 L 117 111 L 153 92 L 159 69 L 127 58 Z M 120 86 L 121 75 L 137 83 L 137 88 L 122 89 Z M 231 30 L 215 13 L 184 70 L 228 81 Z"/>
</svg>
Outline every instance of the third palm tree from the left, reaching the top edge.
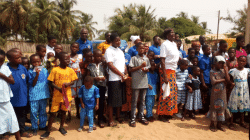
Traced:
<svg viewBox="0 0 250 140">
<path fill-rule="evenodd" d="M 79 10 L 72 10 L 73 5 L 77 4 L 76 0 L 57 0 L 58 3 L 58 13 L 61 14 L 61 39 L 64 37 L 68 40 L 69 36 L 74 32 L 74 27 L 76 26 L 76 19 L 80 19 L 79 16 L 74 14 L 82 14 Z"/>
</svg>

